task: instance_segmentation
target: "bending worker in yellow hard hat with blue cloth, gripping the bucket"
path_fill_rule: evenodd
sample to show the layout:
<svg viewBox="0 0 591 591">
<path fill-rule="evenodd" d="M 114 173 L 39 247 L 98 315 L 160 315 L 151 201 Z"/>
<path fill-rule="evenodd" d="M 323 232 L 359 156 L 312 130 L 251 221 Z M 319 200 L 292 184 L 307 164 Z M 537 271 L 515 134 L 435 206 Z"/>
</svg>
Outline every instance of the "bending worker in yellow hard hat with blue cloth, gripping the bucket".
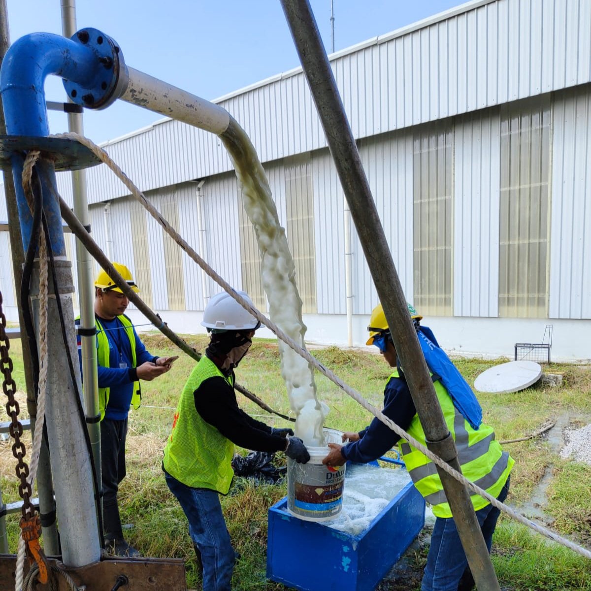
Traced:
<svg viewBox="0 0 591 591">
<path fill-rule="evenodd" d="M 467 479 L 472 480 L 502 502 L 509 490 L 509 473 L 514 460 L 501 449 L 501 445 L 495 439 L 493 428 L 482 423 L 476 397 L 469 386 L 462 383 L 465 380 L 439 348 L 433 333 L 427 327 L 420 326 L 422 319 L 420 314 L 410 304 L 408 304 L 408 311 L 417 329 L 420 342 L 426 342 L 426 346 L 421 343 L 421 349 L 431 370 L 437 400 L 441 405 L 447 427 L 456 443 L 462 473 Z M 372 311 L 368 331 L 367 344 L 376 346 L 392 368 L 392 374 L 384 390 L 382 413 L 414 439 L 426 445 L 425 433 L 404 378 L 404 372 L 398 363 L 397 351 L 381 304 Z M 431 351 L 434 352 L 433 355 Z M 434 367 L 437 367 L 437 371 L 434 371 Z M 444 378 L 439 374 L 444 374 Z M 411 443 L 401 439 L 378 418 L 374 418 L 369 427 L 359 433 L 343 434 L 343 441 L 346 440 L 350 443 L 344 446 L 329 443 L 331 450 L 324 458 L 324 464 L 341 466 L 346 460 L 358 463 L 371 462 L 398 444 L 398 451 L 415 487 L 433 506 L 433 513 L 437 519 L 431 536 L 421 591 L 473 589 L 472 573 L 433 462 Z M 486 546 L 490 551 L 492 534 L 500 511 L 480 495 L 472 495 L 471 500 Z M 392 535 L 395 535 L 395 532 Z"/>
</svg>

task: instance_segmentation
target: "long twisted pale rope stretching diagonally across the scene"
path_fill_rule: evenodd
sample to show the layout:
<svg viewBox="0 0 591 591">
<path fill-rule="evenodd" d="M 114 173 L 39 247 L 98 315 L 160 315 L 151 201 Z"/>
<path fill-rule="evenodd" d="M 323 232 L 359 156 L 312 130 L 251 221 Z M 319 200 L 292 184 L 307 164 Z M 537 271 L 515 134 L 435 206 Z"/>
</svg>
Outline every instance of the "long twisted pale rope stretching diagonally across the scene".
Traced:
<svg viewBox="0 0 591 591">
<path fill-rule="evenodd" d="M 470 482 L 470 480 L 467 480 L 465 478 L 465 476 L 463 476 L 460 472 L 457 472 L 456 470 L 454 470 L 451 466 L 449 466 L 439 456 L 436 456 L 434 453 L 430 452 L 427 449 L 427 447 L 425 447 L 419 441 L 417 441 L 416 439 L 411 437 L 406 431 L 404 431 L 403 429 L 398 427 L 397 424 L 395 424 L 392 420 L 390 420 L 387 416 L 385 416 L 380 410 L 378 410 L 376 407 L 374 407 L 374 405 L 372 405 L 368 401 L 366 401 L 365 398 L 363 398 L 363 396 L 358 391 L 356 391 L 353 388 L 350 388 L 347 384 L 345 384 L 345 382 L 342 381 L 342 379 L 340 379 L 338 376 L 333 374 L 333 372 L 330 371 L 330 369 L 325 368 L 321 363 L 319 363 L 316 360 L 316 358 L 314 358 L 312 355 L 310 355 L 310 353 L 306 349 L 303 349 L 300 345 L 298 345 L 298 343 L 296 343 L 293 339 L 291 339 L 288 335 L 286 335 L 280 329 L 280 327 L 276 326 L 271 320 L 269 320 L 264 314 L 262 314 L 254 306 L 251 306 L 238 292 L 236 292 L 232 288 L 232 286 L 225 279 L 220 277 L 220 275 L 217 274 L 217 272 L 214 269 L 212 269 L 197 254 L 197 252 L 194 251 L 193 248 L 191 248 L 189 243 L 187 243 L 183 239 L 183 237 L 178 234 L 178 232 L 170 225 L 170 223 L 167 222 L 167 220 L 163 217 L 163 215 L 160 212 L 158 212 L 158 210 L 146 199 L 145 195 L 138 189 L 138 187 L 136 187 L 135 184 L 132 183 L 131 180 L 129 180 L 128 176 L 126 176 L 126 174 L 121 170 L 121 168 L 119 168 L 119 166 L 115 162 L 113 162 L 113 160 L 111 160 L 111 157 L 109 157 L 109 154 L 107 152 L 105 152 L 105 150 L 103 150 L 98 145 L 94 144 L 92 141 L 90 141 L 89 139 L 87 139 L 79 134 L 74 134 L 74 133 L 57 134 L 57 135 L 53 135 L 51 137 L 74 139 L 74 140 L 80 142 L 80 144 L 83 144 L 87 148 L 89 148 L 89 150 L 91 150 L 101 161 L 103 161 L 103 163 L 105 163 L 106 165 L 108 165 L 109 168 L 111 168 L 111 170 L 116 174 L 116 176 L 129 189 L 129 191 L 135 197 L 135 199 L 137 199 L 145 207 L 145 209 L 147 209 L 148 212 L 150 212 L 150 215 L 152 217 L 154 217 L 154 219 L 158 223 L 160 223 L 160 225 L 164 228 L 165 232 L 167 232 L 168 235 L 171 236 L 171 238 L 173 238 L 173 240 L 183 249 L 183 251 L 186 252 L 187 255 L 189 255 L 190 258 L 193 259 L 193 261 L 195 261 L 199 265 L 199 267 L 201 267 L 203 269 L 203 271 L 206 272 L 207 275 L 209 275 L 209 277 L 211 277 L 217 284 L 219 284 L 221 287 L 223 287 L 230 294 L 230 296 L 232 296 L 245 310 L 248 310 L 249 312 L 251 312 L 253 314 L 253 316 L 255 316 L 256 319 L 259 320 L 259 322 L 261 322 L 261 324 L 264 324 L 265 326 L 267 326 L 267 328 L 269 330 L 271 330 L 271 332 L 275 333 L 275 335 L 278 337 L 278 339 L 281 339 L 284 343 L 286 343 L 288 346 L 290 346 L 291 349 L 293 349 L 294 351 L 299 353 L 299 355 L 301 355 L 304 359 L 309 361 L 311 363 L 311 365 L 313 365 L 318 371 L 320 371 L 321 374 L 323 374 L 324 376 L 329 378 L 330 381 L 334 382 L 340 389 L 342 389 L 344 392 L 346 392 L 346 394 L 348 394 L 351 398 L 353 398 L 353 400 L 356 400 L 357 402 L 359 402 L 359 404 L 361 404 L 363 408 L 368 410 L 376 418 L 378 418 L 380 421 L 382 421 L 382 423 L 384 423 L 387 427 L 389 427 L 392 431 L 394 431 L 394 433 L 396 433 L 398 436 L 407 440 L 415 448 L 417 448 L 422 453 L 424 453 L 428 457 L 428 459 L 430 459 L 432 462 L 436 463 L 437 466 L 441 467 L 441 469 L 443 469 L 449 475 L 453 476 L 453 478 L 455 478 L 456 480 L 459 480 L 459 482 L 462 482 L 465 486 L 467 486 L 467 488 L 469 488 L 470 491 L 482 496 L 487 501 L 489 501 L 493 506 L 495 506 L 498 509 L 501 509 L 501 511 L 503 511 L 505 514 L 509 515 L 509 517 L 519 521 L 520 523 L 522 523 L 524 525 L 527 525 L 527 527 L 531 528 L 534 531 L 537 531 L 539 534 L 544 535 L 545 537 L 549 538 L 550 540 L 553 540 L 553 541 L 557 542 L 558 544 L 562 544 L 562 545 L 566 546 L 567 548 L 570 548 L 571 550 L 581 554 L 582 556 L 584 556 L 586 558 L 591 558 L 591 551 L 587 550 L 586 548 L 583 548 L 582 546 L 580 546 L 578 544 L 575 544 L 574 542 L 571 542 L 570 540 L 567 540 L 566 538 L 561 537 L 560 535 L 554 533 L 553 531 L 548 530 L 547 528 L 545 528 L 541 525 L 534 523 L 533 521 L 531 521 L 527 517 L 524 517 L 524 515 L 521 515 L 521 514 L 515 512 L 509 506 L 497 501 L 497 499 L 495 497 L 493 497 L 492 495 L 489 495 L 488 492 L 479 488 L 473 482 Z"/>
</svg>

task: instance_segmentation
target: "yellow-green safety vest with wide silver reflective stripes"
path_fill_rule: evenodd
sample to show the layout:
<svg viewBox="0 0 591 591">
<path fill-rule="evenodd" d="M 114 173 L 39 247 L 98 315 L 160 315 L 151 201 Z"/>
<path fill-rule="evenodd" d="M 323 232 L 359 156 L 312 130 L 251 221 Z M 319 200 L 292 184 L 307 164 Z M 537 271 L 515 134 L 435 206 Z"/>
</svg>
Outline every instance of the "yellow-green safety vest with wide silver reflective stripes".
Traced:
<svg viewBox="0 0 591 591">
<path fill-rule="evenodd" d="M 398 378 L 398 371 L 394 371 L 390 378 Z M 475 431 L 454 407 L 452 398 L 443 385 L 439 381 L 433 385 L 447 428 L 456 443 L 462 474 L 490 495 L 498 496 L 509 478 L 514 459 L 501 449 L 492 427 L 481 424 L 478 431 Z M 426 445 L 425 432 L 418 414 L 414 415 L 407 433 Z M 398 447 L 415 487 L 433 505 L 433 514 L 436 517 L 452 517 L 436 465 L 405 439 L 398 442 Z M 489 504 L 480 495 L 472 495 L 470 499 L 475 511 Z"/>
</svg>

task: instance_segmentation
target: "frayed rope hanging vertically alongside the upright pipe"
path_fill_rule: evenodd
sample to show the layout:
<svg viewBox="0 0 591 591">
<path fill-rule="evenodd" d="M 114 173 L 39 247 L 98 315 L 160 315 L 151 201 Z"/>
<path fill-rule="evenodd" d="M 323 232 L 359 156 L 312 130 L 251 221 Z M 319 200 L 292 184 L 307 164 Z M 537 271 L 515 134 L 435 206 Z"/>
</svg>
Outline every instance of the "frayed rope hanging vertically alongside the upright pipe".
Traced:
<svg viewBox="0 0 591 591">
<path fill-rule="evenodd" d="M 33 167 L 39 158 L 38 151 L 30 151 L 25 158 L 22 168 L 22 188 L 24 189 L 27 202 L 33 213 L 33 189 L 31 188 L 31 176 Z M 31 491 L 37 478 L 37 468 L 39 466 L 39 454 L 41 450 L 41 441 L 43 441 L 43 424 L 45 423 L 45 399 L 47 392 L 47 299 L 48 299 L 48 268 L 47 268 L 47 236 L 43 224 L 39 230 L 39 381 L 37 391 L 37 420 L 35 421 L 35 431 L 33 434 L 33 450 L 31 451 L 31 462 L 29 465 L 29 475 L 27 481 L 31 486 Z M 32 516 L 31 516 L 32 517 Z M 21 531 L 22 534 L 22 531 Z M 24 582 L 23 570 L 25 562 L 25 541 L 21 537 L 18 540 L 17 551 L 17 571 L 15 577 L 15 590 L 21 591 Z"/>
</svg>

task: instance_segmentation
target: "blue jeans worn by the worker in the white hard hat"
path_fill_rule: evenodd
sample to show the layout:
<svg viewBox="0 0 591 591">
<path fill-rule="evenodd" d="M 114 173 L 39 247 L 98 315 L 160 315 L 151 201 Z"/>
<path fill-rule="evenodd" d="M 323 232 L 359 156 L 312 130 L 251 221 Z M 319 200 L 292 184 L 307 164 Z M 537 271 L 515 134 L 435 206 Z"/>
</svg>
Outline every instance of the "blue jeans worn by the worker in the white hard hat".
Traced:
<svg viewBox="0 0 591 591">
<path fill-rule="evenodd" d="M 170 492 L 189 519 L 189 535 L 201 552 L 203 591 L 229 591 L 235 553 L 222 514 L 219 494 L 207 488 L 191 488 L 164 471 Z"/>
</svg>

